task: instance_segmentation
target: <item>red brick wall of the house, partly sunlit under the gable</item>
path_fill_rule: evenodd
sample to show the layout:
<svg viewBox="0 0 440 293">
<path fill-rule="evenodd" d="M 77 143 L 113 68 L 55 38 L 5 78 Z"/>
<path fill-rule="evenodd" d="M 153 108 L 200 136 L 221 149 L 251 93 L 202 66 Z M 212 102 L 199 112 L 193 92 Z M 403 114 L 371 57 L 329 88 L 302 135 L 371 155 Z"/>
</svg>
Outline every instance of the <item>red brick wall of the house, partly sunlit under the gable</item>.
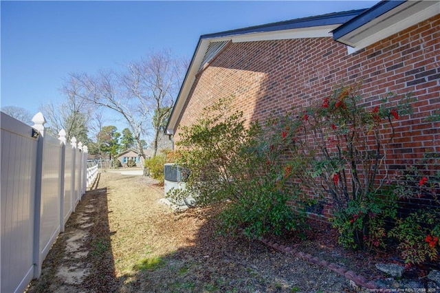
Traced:
<svg viewBox="0 0 440 293">
<path fill-rule="evenodd" d="M 437 15 L 354 54 L 332 38 L 230 43 L 197 75 L 178 124 L 190 125 L 203 107 L 228 96 L 245 118 L 263 120 L 322 100 L 342 81 L 362 80 L 372 109 L 389 91 L 418 99 L 395 124 L 387 158 L 390 169 L 404 169 L 425 151 L 440 152 L 440 123 L 423 120 L 440 109 L 439 27 Z"/>
</svg>

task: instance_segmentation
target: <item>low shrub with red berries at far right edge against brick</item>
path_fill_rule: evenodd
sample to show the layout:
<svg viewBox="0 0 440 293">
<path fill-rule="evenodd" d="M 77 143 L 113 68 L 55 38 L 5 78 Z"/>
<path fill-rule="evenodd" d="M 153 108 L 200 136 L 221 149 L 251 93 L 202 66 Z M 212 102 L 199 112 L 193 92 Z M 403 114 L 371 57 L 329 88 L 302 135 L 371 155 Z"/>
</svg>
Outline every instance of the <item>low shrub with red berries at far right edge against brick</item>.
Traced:
<svg viewBox="0 0 440 293">
<path fill-rule="evenodd" d="M 394 184 L 400 199 L 430 199 L 432 207 L 421 207 L 400 217 L 388 233 L 399 241 L 397 248 L 408 265 L 440 261 L 440 156 L 427 152 L 424 158 L 402 172 Z"/>
</svg>

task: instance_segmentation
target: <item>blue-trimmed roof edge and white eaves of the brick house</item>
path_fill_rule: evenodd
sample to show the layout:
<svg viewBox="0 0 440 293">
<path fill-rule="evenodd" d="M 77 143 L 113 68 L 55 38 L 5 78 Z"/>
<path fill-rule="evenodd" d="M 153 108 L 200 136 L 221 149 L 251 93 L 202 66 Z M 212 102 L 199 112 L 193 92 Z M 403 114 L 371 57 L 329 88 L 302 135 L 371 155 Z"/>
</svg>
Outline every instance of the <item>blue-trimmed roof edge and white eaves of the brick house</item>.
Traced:
<svg viewBox="0 0 440 293">
<path fill-rule="evenodd" d="M 166 134 L 174 134 L 179 116 L 202 62 L 208 63 L 218 52 L 221 52 L 221 50 L 209 52 L 210 43 L 333 36 L 335 41 L 347 45 L 349 54 L 351 54 L 437 14 L 440 14 L 440 1 L 383 0 L 365 10 L 333 12 L 315 17 L 256 25 L 214 34 L 203 34 L 200 36 L 192 55 L 184 82 L 180 87 L 175 105 L 166 124 Z M 217 49 L 219 46 L 217 46 Z"/>
</svg>

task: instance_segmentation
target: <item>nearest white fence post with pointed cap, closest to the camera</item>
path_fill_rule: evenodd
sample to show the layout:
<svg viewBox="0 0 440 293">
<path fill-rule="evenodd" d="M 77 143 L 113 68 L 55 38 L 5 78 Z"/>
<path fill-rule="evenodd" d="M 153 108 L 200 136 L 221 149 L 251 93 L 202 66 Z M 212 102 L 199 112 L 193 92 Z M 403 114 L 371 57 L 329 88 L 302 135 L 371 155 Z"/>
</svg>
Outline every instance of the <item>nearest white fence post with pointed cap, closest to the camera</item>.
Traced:
<svg viewBox="0 0 440 293">
<path fill-rule="evenodd" d="M 41 181 L 43 175 L 43 149 L 44 149 L 44 124 L 46 122 L 41 112 L 36 113 L 34 118 L 34 129 L 38 131 L 39 137 L 36 147 L 36 172 L 35 172 L 35 199 L 34 199 L 34 243 L 33 243 L 33 260 L 34 260 L 34 278 L 41 276 L 41 254 L 40 254 L 40 221 L 41 221 Z"/>
</svg>

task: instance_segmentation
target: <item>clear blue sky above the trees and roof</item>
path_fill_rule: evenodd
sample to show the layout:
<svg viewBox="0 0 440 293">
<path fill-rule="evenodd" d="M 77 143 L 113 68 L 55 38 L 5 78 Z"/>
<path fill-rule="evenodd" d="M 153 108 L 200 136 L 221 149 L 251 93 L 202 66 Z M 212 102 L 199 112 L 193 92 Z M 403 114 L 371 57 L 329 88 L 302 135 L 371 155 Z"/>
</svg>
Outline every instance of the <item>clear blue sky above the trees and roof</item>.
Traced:
<svg viewBox="0 0 440 293">
<path fill-rule="evenodd" d="M 377 2 L 1 1 L 0 105 L 33 115 L 43 103 L 63 100 L 59 89 L 69 73 L 119 69 L 162 48 L 189 60 L 201 34 Z"/>
</svg>

